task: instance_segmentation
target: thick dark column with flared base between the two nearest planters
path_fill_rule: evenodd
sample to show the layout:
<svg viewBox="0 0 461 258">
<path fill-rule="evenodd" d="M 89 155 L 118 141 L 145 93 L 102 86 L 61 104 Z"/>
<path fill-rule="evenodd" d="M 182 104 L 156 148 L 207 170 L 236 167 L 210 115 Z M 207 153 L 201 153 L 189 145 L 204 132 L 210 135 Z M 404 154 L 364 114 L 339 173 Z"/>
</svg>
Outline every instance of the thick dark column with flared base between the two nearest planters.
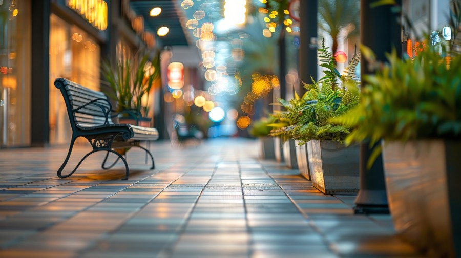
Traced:
<svg viewBox="0 0 461 258">
<path fill-rule="evenodd" d="M 386 61 L 385 53 L 390 53 L 392 49 L 402 54 L 400 13 L 393 12 L 395 8 L 392 5 L 371 8 L 370 4 L 373 2 L 375 0 L 361 0 L 360 41 L 375 53 L 378 61 Z M 401 0 L 395 2 L 402 6 Z M 374 74 L 363 56 L 360 62 L 362 76 Z M 361 86 L 364 87 L 363 81 Z M 360 191 L 355 199 L 355 213 L 389 213 L 383 158 L 380 155 L 373 166 L 367 169 L 370 155 L 369 143 L 362 143 L 360 146 Z"/>
</svg>

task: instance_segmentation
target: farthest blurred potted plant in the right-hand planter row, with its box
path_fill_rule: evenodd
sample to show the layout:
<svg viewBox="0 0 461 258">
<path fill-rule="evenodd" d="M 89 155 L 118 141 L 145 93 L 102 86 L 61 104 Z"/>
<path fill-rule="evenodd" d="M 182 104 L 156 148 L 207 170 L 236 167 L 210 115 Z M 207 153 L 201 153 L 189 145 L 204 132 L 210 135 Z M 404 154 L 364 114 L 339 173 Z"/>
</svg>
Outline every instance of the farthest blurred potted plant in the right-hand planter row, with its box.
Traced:
<svg viewBox="0 0 461 258">
<path fill-rule="evenodd" d="M 267 126 L 274 122 L 275 118 L 272 116 L 262 117 L 255 121 L 248 131 L 251 136 L 258 138 L 259 156 L 262 159 L 275 159 L 274 140 L 269 137 L 272 127 Z"/>
</svg>

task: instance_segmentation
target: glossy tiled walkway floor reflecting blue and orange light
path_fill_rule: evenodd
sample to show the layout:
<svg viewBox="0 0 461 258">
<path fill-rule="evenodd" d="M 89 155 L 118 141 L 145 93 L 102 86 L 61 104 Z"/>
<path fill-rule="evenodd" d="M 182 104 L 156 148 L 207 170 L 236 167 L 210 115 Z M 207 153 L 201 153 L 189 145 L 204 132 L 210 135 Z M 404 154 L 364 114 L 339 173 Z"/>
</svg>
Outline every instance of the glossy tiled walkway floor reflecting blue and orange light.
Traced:
<svg viewBox="0 0 461 258">
<path fill-rule="evenodd" d="M 66 147 L 0 150 L 0 257 L 421 257 L 389 216 L 354 215 L 255 141 L 151 149 L 155 170 L 130 150 L 128 181 L 100 153 L 59 179 Z"/>
</svg>

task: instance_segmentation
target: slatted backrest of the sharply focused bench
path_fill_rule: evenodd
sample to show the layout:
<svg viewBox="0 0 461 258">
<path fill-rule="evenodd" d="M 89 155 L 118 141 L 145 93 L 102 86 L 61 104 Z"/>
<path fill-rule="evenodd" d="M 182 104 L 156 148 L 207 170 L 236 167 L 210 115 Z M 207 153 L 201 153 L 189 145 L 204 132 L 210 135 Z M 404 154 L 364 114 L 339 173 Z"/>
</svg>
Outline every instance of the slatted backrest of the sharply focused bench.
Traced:
<svg viewBox="0 0 461 258">
<path fill-rule="evenodd" d="M 65 78 L 57 78 L 54 85 L 64 97 L 69 120 L 73 128 L 89 129 L 94 126 L 104 125 L 107 112 L 109 112 L 108 123 L 113 124 L 110 118 L 111 105 L 106 94 L 90 90 Z M 90 104 L 81 107 L 94 100 L 96 100 L 96 105 Z"/>
</svg>

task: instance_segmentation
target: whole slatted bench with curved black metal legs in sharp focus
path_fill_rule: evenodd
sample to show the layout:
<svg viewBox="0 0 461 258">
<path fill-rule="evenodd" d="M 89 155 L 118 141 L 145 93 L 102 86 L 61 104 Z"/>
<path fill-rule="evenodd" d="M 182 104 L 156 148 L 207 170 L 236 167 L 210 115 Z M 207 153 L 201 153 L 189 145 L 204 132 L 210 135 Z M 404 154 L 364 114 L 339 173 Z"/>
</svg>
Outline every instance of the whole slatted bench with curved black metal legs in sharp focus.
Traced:
<svg viewBox="0 0 461 258">
<path fill-rule="evenodd" d="M 109 169 L 120 159 L 125 165 L 125 177 L 122 180 L 127 180 L 129 176 L 127 161 L 114 149 L 129 147 L 144 149 L 146 154 L 151 157 L 151 169 L 155 168 L 154 157 L 152 157 L 148 149 L 140 146 L 139 143 L 141 141 L 157 140 L 158 131 L 156 128 L 132 124 L 114 124 L 111 119 L 114 117 L 112 115 L 112 105 L 106 94 L 90 90 L 65 78 L 57 78 L 54 81 L 54 85 L 61 91 L 62 97 L 64 97 L 72 127 L 69 152 L 64 163 L 62 163 L 57 171 L 58 177 L 66 178 L 71 176 L 88 156 L 95 152 L 104 151 L 107 154 L 106 158 L 102 161 L 101 167 Z M 90 142 L 93 150 L 87 153 L 70 173 L 62 175 L 62 170 L 64 170 L 69 161 L 75 139 L 80 136 L 85 137 Z M 110 153 L 118 157 L 112 165 L 106 166 L 106 161 Z"/>
</svg>

